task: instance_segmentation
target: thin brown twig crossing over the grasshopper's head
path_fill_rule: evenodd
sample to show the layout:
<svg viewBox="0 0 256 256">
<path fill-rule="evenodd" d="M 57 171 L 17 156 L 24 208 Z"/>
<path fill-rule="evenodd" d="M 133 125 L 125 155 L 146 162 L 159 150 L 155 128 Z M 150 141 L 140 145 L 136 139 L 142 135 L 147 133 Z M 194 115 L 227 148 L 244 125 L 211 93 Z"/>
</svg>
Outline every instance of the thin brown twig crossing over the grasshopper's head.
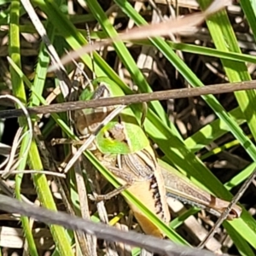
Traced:
<svg viewBox="0 0 256 256">
<path fill-rule="evenodd" d="M 40 106 L 34 108 L 26 108 L 29 114 L 39 113 L 61 113 L 66 111 L 74 111 L 84 108 L 100 108 L 114 105 L 130 105 L 140 102 L 164 101 L 169 99 L 180 99 L 194 96 L 204 96 L 208 94 L 222 94 L 234 92 L 237 90 L 256 89 L 256 81 L 246 81 L 229 84 L 215 84 L 196 88 L 183 88 L 175 90 L 161 90 L 151 93 L 142 93 L 136 95 L 108 97 L 90 101 L 63 102 L 52 104 L 49 106 Z M 23 114 L 20 109 L 7 109 L 0 111 L 0 119 L 8 119 L 19 117 Z"/>
</svg>

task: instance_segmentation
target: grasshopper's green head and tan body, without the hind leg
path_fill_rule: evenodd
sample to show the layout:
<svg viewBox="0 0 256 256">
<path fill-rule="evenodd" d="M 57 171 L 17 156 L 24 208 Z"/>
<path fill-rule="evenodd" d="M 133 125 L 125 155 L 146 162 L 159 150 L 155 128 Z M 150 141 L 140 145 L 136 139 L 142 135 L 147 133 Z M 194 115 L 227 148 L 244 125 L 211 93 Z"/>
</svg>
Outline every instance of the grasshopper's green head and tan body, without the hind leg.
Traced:
<svg viewBox="0 0 256 256">
<path fill-rule="evenodd" d="M 103 82 L 103 83 L 102 83 Z M 98 87 L 98 84 L 101 84 Z M 111 85 L 110 85 L 111 84 Z M 100 99 L 105 96 L 122 96 L 110 79 L 100 78 L 93 82 L 95 92 L 84 90 L 80 100 Z M 100 120 L 113 108 L 100 108 L 92 112 L 85 109 L 75 113 L 76 128 L 80 135 L 89 136 Z M 136 135 L 137 140 L 131 140 Z M 119 183 L 136 195 L 143 204 L 165 223 L 170 221 L 170 212 L 166 202 L 166 190 L 161 172 L 159 172 L 154 150 L 151 148 L 143 129 L 140 127 L 131 108 L 125 108 L 96 135 L 90 150 L 102 161 L 110 172 L 118 177 Z M 128 201 L 131 210 L 146 234 L 162 237 L 162 233 L 137 207 Z"/>
</svg>

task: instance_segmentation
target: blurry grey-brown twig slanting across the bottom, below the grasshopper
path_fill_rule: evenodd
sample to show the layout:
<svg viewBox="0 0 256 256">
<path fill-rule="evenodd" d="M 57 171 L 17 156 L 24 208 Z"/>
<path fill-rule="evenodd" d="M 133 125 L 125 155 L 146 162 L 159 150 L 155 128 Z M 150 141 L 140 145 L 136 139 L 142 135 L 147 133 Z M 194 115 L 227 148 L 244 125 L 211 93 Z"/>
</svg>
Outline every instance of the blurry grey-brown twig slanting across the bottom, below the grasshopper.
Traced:
<svg viewBox="0 0 256 256">
<path fill-rule="evenodd" d="M 6 195 L 0 195 L 0 209 L 4 212 L 20 213 L 46 224 L 58 224 L 67 229 L 81 230 L 106 241 L 119 241 L 135 247 L 144 247 L 150 252 L 160 253 L 161 255 L 215 255 L 206 250 L 180 246 L 172 241 L 161 240 L 154 236 L 145 236 L 134 231 L 117 230 L 106 224 L 94 223 L 90 220 L 71 216 L 65 212 L 54 212 L 44 207 L 29 205 Z"/>
</svg>

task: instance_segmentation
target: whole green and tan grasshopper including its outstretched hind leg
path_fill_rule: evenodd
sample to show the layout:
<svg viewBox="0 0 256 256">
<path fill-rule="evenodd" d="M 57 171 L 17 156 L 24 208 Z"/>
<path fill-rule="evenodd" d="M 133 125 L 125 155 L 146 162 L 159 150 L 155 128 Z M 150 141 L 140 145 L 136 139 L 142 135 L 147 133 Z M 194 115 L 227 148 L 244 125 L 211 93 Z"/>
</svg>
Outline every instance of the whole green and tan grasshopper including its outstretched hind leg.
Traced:
<svg viewBox="0 0 256 256">
<path fill-rule="evenodd" d="M 85 89 L 80 100 L 91 98 L 100 99 L 109 96 L 124 96 L 119 86 L 108 78 L 93 81 L 94 91 Z M 100 84 L 98 86 L 98 84 Z M 84 109 L 75 113 L 76 129 L 80 135 L 89 137 L 90 133 L 114 107 Z M 134 113 L 130 107 L 125 108 L 119 115 L 105 125 L 96 135 L 90 150 L 98 160 L 118 177 L 123 188 L 128 188 L 133 195 L 154 212 L 154 214 L 168 223 L 171 219 L 167 195 L 194 206 L 204 207 L 210 212 L 220 215 L 229 202 L 223 201 L 198 189 L 189 181 L 172 172 L 161 168 L 150 146 L 148 137 L 139 125 L 139 112 Z M 166 186 L 166 188 L 165 188 Z M 108 199 L 108 196 L 104 197 Z M 163 237 L 161 231 L 146 218 L 137 207 L 128 201 L 128 205 L 137 218 L 143 231 L 148 235 Z M 235 206 L 229 218 L 237 218 L 241 214 L 241 207 Z"/>
</svg>

